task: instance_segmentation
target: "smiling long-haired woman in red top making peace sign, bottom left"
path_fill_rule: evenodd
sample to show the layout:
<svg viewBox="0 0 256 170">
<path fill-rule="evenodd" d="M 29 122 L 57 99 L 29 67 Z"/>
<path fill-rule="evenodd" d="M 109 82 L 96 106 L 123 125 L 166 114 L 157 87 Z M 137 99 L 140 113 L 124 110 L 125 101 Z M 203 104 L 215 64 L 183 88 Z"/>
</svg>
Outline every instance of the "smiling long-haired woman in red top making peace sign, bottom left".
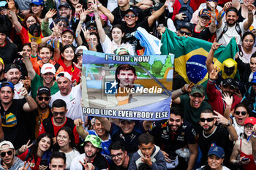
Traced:
<svg viewBox="0 0 256 170">
<path fill-rule="evenodd" d="M 50 134 L 41 134 L 37 142 L 28 148 L 25 152 L 18 155 L 22 161 L 30 162 L 32 170 L 45 170 L 50 162 L 51 147 L 53 139 Z"/>
</svg>

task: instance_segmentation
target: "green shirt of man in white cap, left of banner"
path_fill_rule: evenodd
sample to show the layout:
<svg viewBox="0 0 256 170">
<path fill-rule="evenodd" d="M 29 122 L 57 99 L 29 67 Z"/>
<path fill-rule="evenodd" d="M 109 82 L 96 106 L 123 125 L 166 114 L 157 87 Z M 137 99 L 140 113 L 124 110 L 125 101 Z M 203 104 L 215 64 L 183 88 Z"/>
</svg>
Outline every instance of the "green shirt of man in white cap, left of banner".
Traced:
<svg viewBox="0 0 256 170">
<path fill-rule="evenodd" d="M 35 75 L 34 79 L 31 82 L 31 96 L 36 99 L 37 96 L 37 90 L 39 87 L 44 86 L 42 77 L 40 77 L 38 74 Z M 54 83 L 52 87 L 50 87 L 50 95 L 53 95 L 59 91 L 59 87 L 57 82 Z"/>
</svg>

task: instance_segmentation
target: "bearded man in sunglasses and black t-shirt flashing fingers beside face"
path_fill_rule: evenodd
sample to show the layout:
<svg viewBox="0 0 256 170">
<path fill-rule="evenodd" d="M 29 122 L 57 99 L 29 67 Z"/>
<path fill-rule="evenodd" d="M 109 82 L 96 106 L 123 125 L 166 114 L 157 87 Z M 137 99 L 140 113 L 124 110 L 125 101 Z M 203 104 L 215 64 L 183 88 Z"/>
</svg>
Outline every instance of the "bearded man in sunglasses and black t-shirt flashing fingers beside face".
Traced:
<svg viewBox="0 0 256 170">
<path fill-rule="evenodd" d="M 214 112 L 216 115 L 214 115 Z M 207 161 L 207 153 L 211 146 L 219 146 L 225 149 L 225 163 L 229 162 L 230 146 L 238 139 L 236 129 L 231 125 L 230 120 L 212 109 L 204 109 L 200 115 L 200 133 L 198 134 L 198 145 L 202 151 L 201 165 Z M 219 126 L 215 125 L 219 123 Z M 225 128 L 223 127 L 225 126 Z M 232 141 L 232 142 L 230 142 Z"/>
</svg>

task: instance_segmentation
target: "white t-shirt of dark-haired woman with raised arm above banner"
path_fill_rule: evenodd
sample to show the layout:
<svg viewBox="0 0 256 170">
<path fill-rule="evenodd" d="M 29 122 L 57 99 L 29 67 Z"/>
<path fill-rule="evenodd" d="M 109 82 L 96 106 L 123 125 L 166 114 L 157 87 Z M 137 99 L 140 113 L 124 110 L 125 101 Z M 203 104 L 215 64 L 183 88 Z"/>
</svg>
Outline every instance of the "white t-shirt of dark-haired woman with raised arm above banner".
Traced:
<svg viewBox="0 0 256 170">
<path fill-rule="evenodd" d="M 105 42 L 100 41 L 100 43 L 102 45 L 102 50 L 104 53 L 113 54 L 113 51 L 118 48 L 118 45 L 116 45 L 114 41 L 111 42 L 110 38 L 107 35 L 105 36 Z M 130 55 L 135 55 L 135 50 L 128 42 L 126 44 L 121 44 L 120 47 L 126 47 Z"/>
</svg>

